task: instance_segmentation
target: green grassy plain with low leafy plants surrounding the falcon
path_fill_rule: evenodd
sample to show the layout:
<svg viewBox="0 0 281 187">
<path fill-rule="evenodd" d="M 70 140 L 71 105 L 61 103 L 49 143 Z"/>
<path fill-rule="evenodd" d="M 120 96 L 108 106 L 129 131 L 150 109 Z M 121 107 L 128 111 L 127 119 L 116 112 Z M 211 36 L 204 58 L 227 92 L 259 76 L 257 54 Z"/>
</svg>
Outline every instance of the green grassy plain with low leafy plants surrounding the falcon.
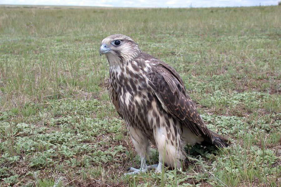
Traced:
<svg viewBox="0 0 281 187">
<path fill-rule="evenodd" d="M 278 6 L 0 7 L 0 186 L 280 186 L 280 17 Z M 182 171 L 123 176 L 140 158 L 98 55 L 115 33 L 171 64 L 234 144 L 187 146 Z"/>
</svg>

